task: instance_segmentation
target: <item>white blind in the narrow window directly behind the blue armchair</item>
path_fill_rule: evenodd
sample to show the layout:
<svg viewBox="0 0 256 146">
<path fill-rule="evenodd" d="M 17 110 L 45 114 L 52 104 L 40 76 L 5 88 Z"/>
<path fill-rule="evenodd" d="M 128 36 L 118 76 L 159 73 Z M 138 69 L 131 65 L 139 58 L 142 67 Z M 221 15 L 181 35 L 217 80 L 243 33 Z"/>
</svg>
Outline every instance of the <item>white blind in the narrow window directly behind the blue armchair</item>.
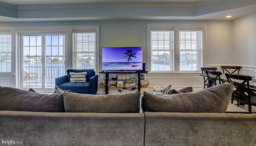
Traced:
<svg viewBox="0 0 256 146">
<path fill-rule="evenodd" d="M 95 70 L 95 43 L 94 32 L 73 33 L 73 69 Z"/>
</svg>

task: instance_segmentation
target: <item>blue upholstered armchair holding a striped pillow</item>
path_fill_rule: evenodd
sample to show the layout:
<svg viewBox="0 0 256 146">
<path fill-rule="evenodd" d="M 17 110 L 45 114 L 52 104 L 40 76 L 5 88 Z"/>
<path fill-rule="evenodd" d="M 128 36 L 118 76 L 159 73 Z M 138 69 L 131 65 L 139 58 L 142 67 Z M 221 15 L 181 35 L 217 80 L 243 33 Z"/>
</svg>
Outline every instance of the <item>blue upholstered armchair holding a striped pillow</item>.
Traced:
<svg viewBox="0 0 256 146">
<path fill-rule="evenodd" d="M 82 73 L 87 72 L 86 83 L 70 83 L 70 72 Z M 67 75 L 57 77 L 55 85 L 62 90 L 71 90 L 74 93 L 96 94 L 98 90 L 98 75 L 95 75 L 93 69 L 68 69 Z"/>
</svg>

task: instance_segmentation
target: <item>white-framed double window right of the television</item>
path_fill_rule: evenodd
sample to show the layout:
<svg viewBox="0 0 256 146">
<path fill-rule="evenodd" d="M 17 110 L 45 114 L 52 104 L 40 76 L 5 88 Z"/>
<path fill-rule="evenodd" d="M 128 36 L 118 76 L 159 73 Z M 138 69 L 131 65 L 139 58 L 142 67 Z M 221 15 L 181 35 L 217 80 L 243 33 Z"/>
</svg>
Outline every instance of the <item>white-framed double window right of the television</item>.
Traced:
<svg viewBox="0 0 256 146">
<path fill-rule="evenodd" d="M 198 72 L 203 66 L 205 25 L 148 24 L 151 73 Z"/>
</svg>

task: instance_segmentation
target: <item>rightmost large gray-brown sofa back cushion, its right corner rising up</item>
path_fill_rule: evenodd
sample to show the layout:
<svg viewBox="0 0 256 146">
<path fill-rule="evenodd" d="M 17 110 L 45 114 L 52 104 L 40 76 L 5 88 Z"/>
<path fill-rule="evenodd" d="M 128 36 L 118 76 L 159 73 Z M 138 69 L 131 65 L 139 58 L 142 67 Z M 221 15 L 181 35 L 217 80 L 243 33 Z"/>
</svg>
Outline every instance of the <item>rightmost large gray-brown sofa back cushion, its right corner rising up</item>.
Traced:
<svg viewBox="0 0 256 146">
<path fill-rule="evenodd" d="M 224 113 L 233 91 L 232 84 L 222 84 L 191 93 L 154 95 L 144 92 L 144 112 L 215 112 Z"/>
</svg>

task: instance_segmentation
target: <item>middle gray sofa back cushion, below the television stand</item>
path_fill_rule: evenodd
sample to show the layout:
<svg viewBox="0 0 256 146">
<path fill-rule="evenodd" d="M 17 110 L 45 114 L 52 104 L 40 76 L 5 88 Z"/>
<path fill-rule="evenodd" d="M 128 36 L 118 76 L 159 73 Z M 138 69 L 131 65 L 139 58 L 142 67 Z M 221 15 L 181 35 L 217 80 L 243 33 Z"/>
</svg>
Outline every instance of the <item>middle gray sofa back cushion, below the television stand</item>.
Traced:
<svg viewBox="0 0 256 146">
<path fill-rule="evenodd" d="M 89 95 L 64 92 L 66 112 L 140 112 L 140 92 L 109 95 Z"/>
</svg>

